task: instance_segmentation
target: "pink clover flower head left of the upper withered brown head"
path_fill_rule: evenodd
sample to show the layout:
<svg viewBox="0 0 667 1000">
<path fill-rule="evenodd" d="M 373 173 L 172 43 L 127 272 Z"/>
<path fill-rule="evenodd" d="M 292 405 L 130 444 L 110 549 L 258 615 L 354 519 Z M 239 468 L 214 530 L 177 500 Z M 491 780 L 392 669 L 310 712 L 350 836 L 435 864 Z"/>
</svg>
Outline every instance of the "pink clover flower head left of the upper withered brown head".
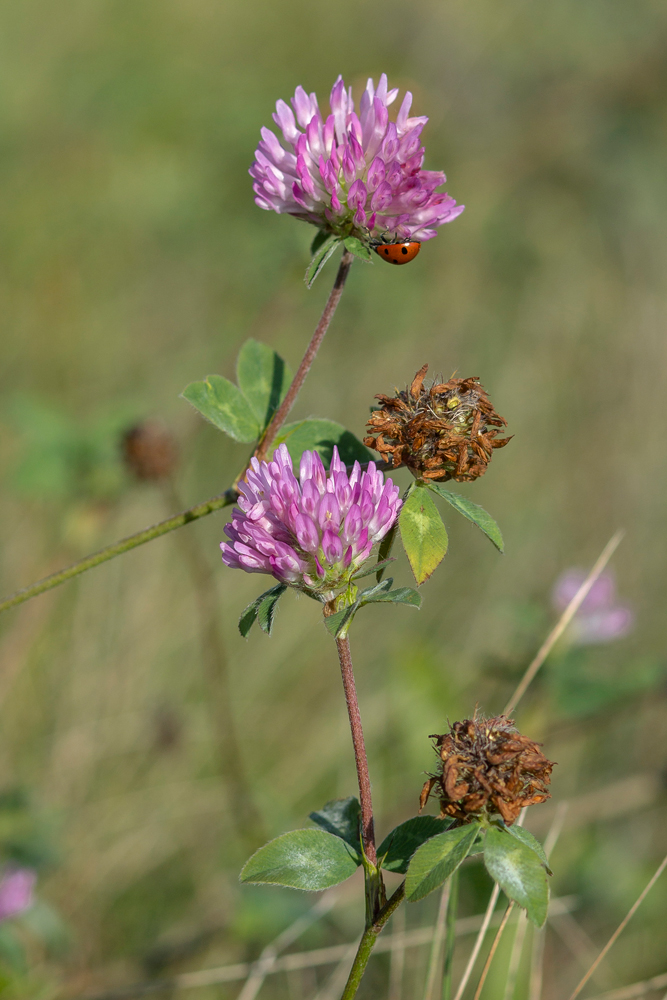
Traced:
<svg viewBox="0 0 667 1000">
<path fill-rule="evenodd" d="M 348 475 L 337 448 L 328 474 L 316 451 L 304 451 L 297 480 L 281 444 L 270 462 L 252 459 L 239 492 L 223 562 L 327 600 L 349 584 L 401 506 L 398 487 L 373 462 L 365 472 L 355 462 Z"/>
</svg>

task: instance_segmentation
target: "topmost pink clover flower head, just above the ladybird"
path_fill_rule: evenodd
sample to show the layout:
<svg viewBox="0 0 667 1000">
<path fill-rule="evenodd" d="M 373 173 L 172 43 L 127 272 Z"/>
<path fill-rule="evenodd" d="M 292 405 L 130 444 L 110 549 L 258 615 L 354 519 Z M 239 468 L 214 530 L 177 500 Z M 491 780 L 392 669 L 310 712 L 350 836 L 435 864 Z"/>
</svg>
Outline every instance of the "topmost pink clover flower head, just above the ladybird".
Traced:
<svg viewBox="0 0 667 1000">
<path fill-rule="evenodd" d="M 331 114 L 320 112 L 315 94 L 297 87 L 290 108 L 278 101 L 273 120 L 282 142 L 268 128 L 250 168 L 260 208 L 287 212 L 335 236 L 373 236 L 422 242 L 437 235 L 463 205 L 436 189 L 445 183 L 437 170 L 422 170 L 421 132 L 428 118 L 410 118 L 406 93 L 396 121 L 389 105 L 398 90 L 387 89 L 386 74 L 366 84 L 359 114 L 352 88 L 338 77 L 331 91 Z M 294 109 L 294 110 L 292 110 Z"/>
</svg>

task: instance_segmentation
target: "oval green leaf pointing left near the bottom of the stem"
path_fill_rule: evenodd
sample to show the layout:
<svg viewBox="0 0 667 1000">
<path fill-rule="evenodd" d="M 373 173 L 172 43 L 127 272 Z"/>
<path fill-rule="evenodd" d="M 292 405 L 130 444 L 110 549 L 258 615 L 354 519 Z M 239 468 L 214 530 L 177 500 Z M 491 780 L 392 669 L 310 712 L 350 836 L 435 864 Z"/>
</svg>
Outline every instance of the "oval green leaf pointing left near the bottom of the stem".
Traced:
<svg viewBox="0 0 667 1000">
<path fill-rule="evenodd" d="M 240 879 L 317 892 L 344 882 L 357 865 L 352 848 L 340 837 L 325 830 L 292 830 L 255 851 Z"/>
</svg>

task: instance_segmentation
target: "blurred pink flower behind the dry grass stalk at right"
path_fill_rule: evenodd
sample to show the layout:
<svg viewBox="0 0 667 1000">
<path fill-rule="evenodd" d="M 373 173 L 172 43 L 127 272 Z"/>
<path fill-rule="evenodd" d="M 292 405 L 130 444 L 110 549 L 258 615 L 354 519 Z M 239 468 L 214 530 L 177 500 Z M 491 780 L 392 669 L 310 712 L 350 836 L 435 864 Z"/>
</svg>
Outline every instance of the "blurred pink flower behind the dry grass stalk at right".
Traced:
<svg viewBox="0 0 667 1000">
<path fill-rule="evenodd" d="M 588 576 L 586 570 L 568 569 L 556 581 L 552 593 L 557 611 L 564 611 Z M 570 625 L 570 641 L 593 645 L 620 639 L 632 629 L 635 616 L 616 599 L 616 584 L 611 573 L 601 573 Z"/>
</svg>

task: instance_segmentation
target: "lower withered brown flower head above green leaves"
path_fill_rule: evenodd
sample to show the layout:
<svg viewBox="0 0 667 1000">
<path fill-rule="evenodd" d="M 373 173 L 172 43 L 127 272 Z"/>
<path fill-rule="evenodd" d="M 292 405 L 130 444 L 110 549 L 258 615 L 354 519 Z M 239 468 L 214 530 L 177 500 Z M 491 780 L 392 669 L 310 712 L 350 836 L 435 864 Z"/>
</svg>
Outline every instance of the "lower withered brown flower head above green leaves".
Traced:
<svg viewBox="0 0 667 1000">
<path fill-rule="evenodd" d="M 500 813 L 508 826 L 524 806 L 545 802 L 553 763 L 540 744 L 522 736 L 512 719 L 475 716 L 450 726 L 448 733 L 431 737 L 440 768 L 422 788 L 420 807 L 429 795 L 440 799 L 440 816 L 462 823 Z"/>
</svg>

